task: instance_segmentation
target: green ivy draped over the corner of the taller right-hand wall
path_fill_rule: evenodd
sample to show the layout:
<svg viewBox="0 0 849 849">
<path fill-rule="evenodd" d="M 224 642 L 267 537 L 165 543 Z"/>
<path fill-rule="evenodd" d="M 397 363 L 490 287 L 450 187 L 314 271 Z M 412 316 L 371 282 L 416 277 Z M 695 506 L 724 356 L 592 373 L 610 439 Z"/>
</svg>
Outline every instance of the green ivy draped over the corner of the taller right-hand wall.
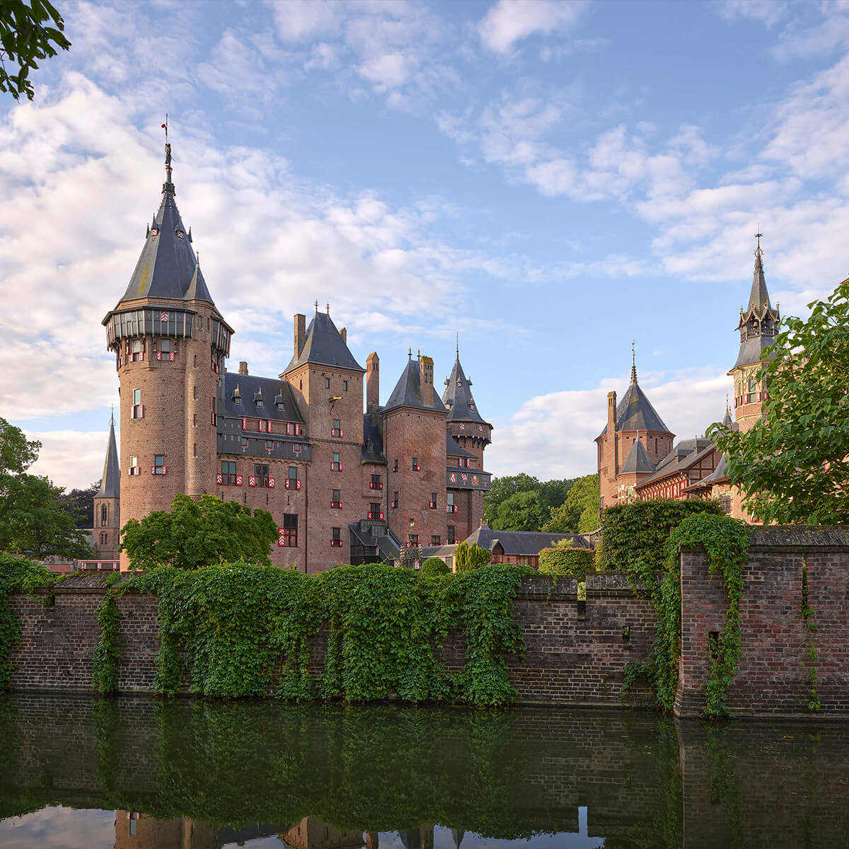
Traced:
<svg viewBox="0 0 849 849">
<path fill-rule="evenodd" d="M 636 505 L 631 505 L 636 506 Z M 613 508 L 616 509 L 616 508 Z M 654 543 L 652 543 L 654 544 Z M 728 685 L 737 670 L 740 654 L 739 599 L 743 593 L 743 566 L 749 555 L 749 528 L 744 522 L 712 512 L 691 513 L 666 540 L 661 582 L 655 570 L 647 571 L 644 560 L 635 557 L 627 563 L 628 581 L 635 591 L 650 599 L 658 625 L 649 659 L 628 664 L 626 689 L 635 678 L 645 675 L 655 689 L 658 704 L 671 711 L 678 686 L 681 645 L 681 548 L 705 548 L 711 575 L 722 575 L 728 593 L 725 627 L 717 644 L 711 645 L 711 677 L 705 688 L 706 717 L 729 715 L 725 704 Z"/>
</svg>

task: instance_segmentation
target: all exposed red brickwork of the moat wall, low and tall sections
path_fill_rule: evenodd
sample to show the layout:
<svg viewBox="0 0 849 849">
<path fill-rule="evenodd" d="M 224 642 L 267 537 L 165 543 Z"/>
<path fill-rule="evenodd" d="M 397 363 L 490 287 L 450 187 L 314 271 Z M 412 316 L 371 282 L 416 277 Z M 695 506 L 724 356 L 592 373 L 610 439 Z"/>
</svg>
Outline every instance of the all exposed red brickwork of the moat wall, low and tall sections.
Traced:
<svg viewBox="0 0 849 849">
<path fill-rule="evenodd" d="M 807 558 L 808 603 L 817 621 L 820 716 L 849 718 L 849 529 L 757 529 L 745 568 L 740 604 L 742 657 L 729 691 L 740 716 L 809 717 L 808 631 L 801 616 L 801 566 Z M 765 544 L 770 543 L 770 544 Z M 784 543 L 784 544 L 772 544 Z M 53 606 L 13 595 L 23 642 L 14 652 L 10 688 L 89 691 L 94 612 L 103 596 L 102 576 L 60 584 Z M 643 660 L 655 632 L 650 605 L 616 572 L 590 573 L 587 601 L 573 580 L 554 586 L 529 578 L 516 594 L 514 619 L 525 633 L 524 659 L 508 659 L 522 704 L 650 706 L 646 689 L 622 699 L 622 669 Z M 708 574 L 700 551 L 682 554 L 682 660 L 676 712 L 696 716 L 707 680 L 708 634 L 721 631 L 727 599 L 722 578 Z M 149 693 L 158 648 L 156 601 L 127 594 L 118 600 L 124 649 L 119 672 L 123 693 Z M 449 638 L 449 667 L 462 663 L 463 642 Z"/>
</svg>

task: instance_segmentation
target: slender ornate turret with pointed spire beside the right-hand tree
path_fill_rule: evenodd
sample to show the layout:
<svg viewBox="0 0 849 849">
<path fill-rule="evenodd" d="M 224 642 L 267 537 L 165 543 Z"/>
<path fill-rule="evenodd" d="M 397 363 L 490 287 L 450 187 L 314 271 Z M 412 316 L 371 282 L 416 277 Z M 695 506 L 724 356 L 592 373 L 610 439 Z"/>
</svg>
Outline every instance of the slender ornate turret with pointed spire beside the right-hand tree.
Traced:
<svg viewBox="0 0 849 849">
<path fill-rule="evenodd" d="M 734 418 L 740 430 L 749 430 L 761 418 L 767 387 L 758 377 L 767 357 L 764 351 L 775 341 L 781 318 L 778 306 L 773 307 L 763 273 L 762 233 L 756 233 L 755 273 L 752 276 L 749 303 L 740 307 L 737 329 L 740 347 L 737 361 L 728 372 L 734 378 Z"/>
</svg>

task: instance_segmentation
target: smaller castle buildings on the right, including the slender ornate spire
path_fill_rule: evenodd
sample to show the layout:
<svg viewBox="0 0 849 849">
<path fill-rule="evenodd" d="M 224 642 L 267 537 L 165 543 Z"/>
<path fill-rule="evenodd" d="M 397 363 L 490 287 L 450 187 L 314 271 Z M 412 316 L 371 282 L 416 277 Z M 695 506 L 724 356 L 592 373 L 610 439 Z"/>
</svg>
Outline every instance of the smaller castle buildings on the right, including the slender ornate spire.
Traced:
<svg viewBox="0 0 849 849">
<path fill-rule="evenodd" d="M 761 418 L 767 387 L 758 378 L 763 351 L 773 344 L 779 323 L 763 273 L 761 233 L 756 235 L 755 272 L 749 303 L 740 308 L 737 360 L 728 372 L 734 379 L 734 422 L 726 408 L 722 424 L 746 431 Z M 696 437 L 673 445 L 666 427 L 637 380 L 620 402 L 607 396 L 607 425 L 596 437 L 600 486 L 599 508 L 653 498 L 718 498 L 727 514 L 748 520 L 739 490 L 728 479 L 722 454 L 709 439 Z"/>
</svg>

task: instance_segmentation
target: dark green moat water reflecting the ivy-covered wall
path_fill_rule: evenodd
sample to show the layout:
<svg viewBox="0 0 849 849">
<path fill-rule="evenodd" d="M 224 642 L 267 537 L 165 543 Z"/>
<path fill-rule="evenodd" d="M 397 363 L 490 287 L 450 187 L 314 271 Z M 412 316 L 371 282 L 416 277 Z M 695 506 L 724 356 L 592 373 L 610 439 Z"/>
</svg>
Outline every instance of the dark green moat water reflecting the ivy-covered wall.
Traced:
<svg viewBox="0 0 849 849">
<path fill-rule="evenodd" d="M 0 846 L 849 845 L 849 726 L 0 699 Z"/>
</svg>

